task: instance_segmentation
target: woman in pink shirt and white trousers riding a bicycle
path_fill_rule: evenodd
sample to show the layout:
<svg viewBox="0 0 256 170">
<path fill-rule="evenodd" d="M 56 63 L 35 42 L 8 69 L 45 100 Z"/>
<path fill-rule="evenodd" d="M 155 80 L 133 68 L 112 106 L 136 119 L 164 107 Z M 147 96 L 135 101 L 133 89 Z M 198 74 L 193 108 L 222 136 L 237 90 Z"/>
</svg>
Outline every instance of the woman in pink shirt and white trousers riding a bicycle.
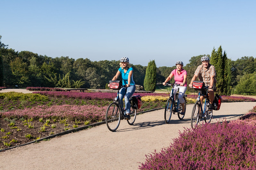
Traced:
<svg viewBox="0 0 256 170">
<path fill-rule="evenodd" d="M 179 101 L 180 104 L 182 105 L 182 112 L 181 114 L 185 114 L 185 105 L 184 105 L 184 99 L 183 96 L 187 90 L 187 72 L 186 70 L 182 69 L 183 67 L 183 62 L 182 61 L 177 61 L 176 62 L 176 68 L 172 70 L 171 74 L 166 78 L 166 80 L 163 82 L 163 85 L 165 85 L 173 76 L 175 83 L 180 84 L 180 86 L 174 86 L 173 94 L 176 94 L 179 90 Z"/>
</svg>

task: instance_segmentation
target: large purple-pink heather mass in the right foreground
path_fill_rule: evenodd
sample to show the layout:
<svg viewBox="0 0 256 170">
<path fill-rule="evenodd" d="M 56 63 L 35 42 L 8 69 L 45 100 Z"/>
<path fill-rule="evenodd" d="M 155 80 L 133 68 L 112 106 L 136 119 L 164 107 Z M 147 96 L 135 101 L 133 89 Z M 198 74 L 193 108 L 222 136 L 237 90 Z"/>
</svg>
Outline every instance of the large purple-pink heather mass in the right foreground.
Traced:
<svg viewBox="0 0 256 170">
<path fill-rule="evenodd" d="M 240 119 L 185 129 L 139 169 L 256 169 L 256 113 Z"/>
</svg>

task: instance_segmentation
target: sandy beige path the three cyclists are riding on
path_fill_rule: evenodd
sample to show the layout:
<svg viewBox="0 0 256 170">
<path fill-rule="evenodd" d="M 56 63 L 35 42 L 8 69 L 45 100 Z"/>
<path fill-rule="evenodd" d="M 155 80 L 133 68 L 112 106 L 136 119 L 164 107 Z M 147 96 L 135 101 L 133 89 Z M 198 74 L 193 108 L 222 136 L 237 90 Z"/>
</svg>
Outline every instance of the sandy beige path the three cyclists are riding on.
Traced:
<svg viewBox="0 0 256 170">
<path fill-rule="evenodd" d="M 222 103 L 212 122 L 237 119 L 256 102 Z M 168 147 L 178 131 L 190 128 L 193 105 L 187 105 L 183 120 L 177 114 L 165 124 L 158 110 L 138 115 L 130 126 L 122 120 L 116 132 L 106 125 L 0 152 L 0 169 L 137 169 L 145 154 Z"/>
</svg>

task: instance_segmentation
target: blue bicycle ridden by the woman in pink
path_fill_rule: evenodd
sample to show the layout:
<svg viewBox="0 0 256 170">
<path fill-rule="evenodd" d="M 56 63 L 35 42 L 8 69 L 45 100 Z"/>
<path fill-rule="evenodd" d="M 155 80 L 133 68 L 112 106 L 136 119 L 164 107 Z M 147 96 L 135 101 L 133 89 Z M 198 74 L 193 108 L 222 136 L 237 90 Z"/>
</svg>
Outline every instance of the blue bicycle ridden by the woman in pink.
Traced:
<svg viewBox="0 0 256 170">
<path fill-rule="evenodd" d="M 180 84 L 172 83 L 172 84 L 166 84 L 166 85 L 167 86 L 172 86 L 172 89 L 169 93 L 169 99 L 166 102 L 165 110 L 164 110 L 164 121 L 165 121 L 165 123 L 169 123 L 172 113 L 175 114 L 177 112 L 178 113 L 178 118 L 180 120 L 184 118 L 185 113 L 186 113 L 186 103 L 187 103 L 186 97 L 187 97 L 187 95 L 184 94 L 184 96 L 183 96 L 183 99 L 185 100 L 185 103 L 184 103 L 185 111 L 184 111 L 184 114 L 181 114 L 182 105 L 179 103 L 179 98 L 178 98 L 178 95 L 177 95 L 178 93 L 175 94 L 176 97 L 173 95 L 174 86 L 179 86 Z M 175 100 L 175 98 L 177 100 Z"/>
</svg>

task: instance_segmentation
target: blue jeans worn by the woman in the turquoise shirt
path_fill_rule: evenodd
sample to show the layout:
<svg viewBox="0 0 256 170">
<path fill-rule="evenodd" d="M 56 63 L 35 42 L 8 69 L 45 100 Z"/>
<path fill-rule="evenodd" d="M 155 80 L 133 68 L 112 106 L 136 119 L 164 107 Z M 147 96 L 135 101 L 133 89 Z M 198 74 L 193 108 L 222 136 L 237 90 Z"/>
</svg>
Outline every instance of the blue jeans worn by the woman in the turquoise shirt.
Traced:
<svg viewBox="0 0 256 170">
<path fill-rule="evenodd" d="M 129 99 L 135 92 L 135 89 L 136 89 L 135 85 L 130 85 L 130 87 L 122 87 L 119 90 L 120 105 L 121 105 L 121 108 L 124 107 L 124 103 L 123 103 L 123 98 L 124 98 L 126 114 L 129 114 L 131 112 L 131 105 L 130 105 Z"/>
</svg>

